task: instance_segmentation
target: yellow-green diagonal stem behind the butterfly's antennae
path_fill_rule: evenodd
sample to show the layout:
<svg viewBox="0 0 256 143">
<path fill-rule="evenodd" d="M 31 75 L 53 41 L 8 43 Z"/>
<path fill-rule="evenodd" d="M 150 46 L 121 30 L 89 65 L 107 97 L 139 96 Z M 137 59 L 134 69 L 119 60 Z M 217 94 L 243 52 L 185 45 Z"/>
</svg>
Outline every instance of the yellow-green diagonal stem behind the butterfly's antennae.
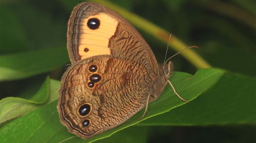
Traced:
<svg viewBox="0 0 256 143">
<path fill-rule="evenodd" d="M 120 8 L 119 6 L 107 1 L 107 0 L 92 0 L 94 2 L 100 3 L 117 13 L 119 13 L 122 17 L 125 17 L 128 21 L 130 21 L 133 25 L 137 28 L 145 31 L 148 34 L 151 34 L 155 38 L 161 40 L 162 42 L 168 43 L 170 33 L 162 29 L 161 27 L 154 25 L 153 23 L 149 22 L 148 20 L 139 17 L 124 8 Z M 170 46 L 176 50 L 181 51 L 188 46 L 181 42 L 178 38 L 172 35 Z M 207 68 L 211 67 L 207 61 L 205 61 L 200 55 L 198 55 L 193 50 L 186 50 L 186 52 L 182 53 L 183 57 L 190 61 L 195 67 L 197 68 Z"/>
</svg>

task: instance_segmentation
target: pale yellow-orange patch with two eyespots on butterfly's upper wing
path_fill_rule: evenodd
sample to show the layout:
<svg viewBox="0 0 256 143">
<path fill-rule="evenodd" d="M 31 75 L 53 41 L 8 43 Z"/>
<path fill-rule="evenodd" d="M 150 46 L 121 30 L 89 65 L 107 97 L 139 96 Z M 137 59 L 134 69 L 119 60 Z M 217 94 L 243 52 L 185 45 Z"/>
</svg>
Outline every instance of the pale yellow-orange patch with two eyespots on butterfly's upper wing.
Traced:
<svg viewBox="0 0 256 143">
<path fill-rule="evenodd" d="M 91 18 L 100 20 L 101 24 L 98 29 L 91 30 L 87 26 L 87 22 Z M 85 18 L 82 25 L 79 26 L 78 53 L 81 59 L 96 55 L 110 55 L 109 40 L 115 34 L 117 25 L 118 21 L 105 13 Z"/>
</svg>

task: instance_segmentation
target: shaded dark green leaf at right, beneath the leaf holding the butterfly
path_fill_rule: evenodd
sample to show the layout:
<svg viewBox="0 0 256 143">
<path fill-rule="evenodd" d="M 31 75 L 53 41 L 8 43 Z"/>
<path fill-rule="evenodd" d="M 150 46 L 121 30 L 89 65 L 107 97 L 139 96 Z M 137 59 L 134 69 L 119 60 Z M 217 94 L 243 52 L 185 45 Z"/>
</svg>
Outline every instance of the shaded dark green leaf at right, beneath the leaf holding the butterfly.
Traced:
<svg viewBox="0 0 256 143">
<path fill-rule="evenodd" d="M 256 124 L 255 83 L 254 77 L 225 72 L 214 86 L 196 100 L 138 125 Z"/>
</svg>

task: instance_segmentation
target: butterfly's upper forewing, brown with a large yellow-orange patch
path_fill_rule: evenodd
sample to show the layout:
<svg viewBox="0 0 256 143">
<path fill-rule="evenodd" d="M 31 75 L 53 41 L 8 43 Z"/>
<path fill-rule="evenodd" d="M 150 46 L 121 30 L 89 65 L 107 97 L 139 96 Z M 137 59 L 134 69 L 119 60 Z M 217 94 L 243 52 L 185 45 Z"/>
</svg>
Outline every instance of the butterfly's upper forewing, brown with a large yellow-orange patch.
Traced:
<svg viewBox="0 0 256 143">
<path fill-rule="evenodd" d="M 91 18 L 100 20 L 99 28 L 91 30 L 88 27 Z M 155 56 L 137 30 L 117 13 L 100 4 L 83 2 L 76 6 L 68 22 L 67 37 L 72 63 L 108 54 L 138 61 L 148 72 L 159 74 Z"/>
</svg>

